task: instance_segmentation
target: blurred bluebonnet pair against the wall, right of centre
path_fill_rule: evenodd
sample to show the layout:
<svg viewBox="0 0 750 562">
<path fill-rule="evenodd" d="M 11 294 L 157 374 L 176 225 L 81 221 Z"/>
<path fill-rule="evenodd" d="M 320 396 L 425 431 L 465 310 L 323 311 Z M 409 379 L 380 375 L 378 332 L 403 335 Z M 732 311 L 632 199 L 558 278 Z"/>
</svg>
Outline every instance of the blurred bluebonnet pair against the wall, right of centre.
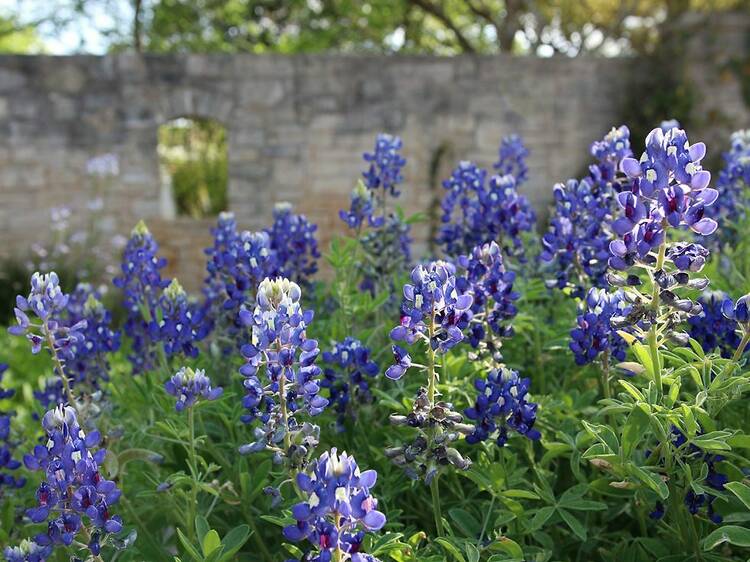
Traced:
<svg viewBox="0 0 750 562">
<path fill-rule="evenodd" d="M 492 176 L 471 162 L 461 162 L 443 182 L 443 226 L 437 242 L 449 256 L 468 254 L 475 246 L 496 241 L 508 255 L 523 259 L 521 232 L 530 232 L 536 214 L 519 195 L 512 175 Z"/>
</svg>

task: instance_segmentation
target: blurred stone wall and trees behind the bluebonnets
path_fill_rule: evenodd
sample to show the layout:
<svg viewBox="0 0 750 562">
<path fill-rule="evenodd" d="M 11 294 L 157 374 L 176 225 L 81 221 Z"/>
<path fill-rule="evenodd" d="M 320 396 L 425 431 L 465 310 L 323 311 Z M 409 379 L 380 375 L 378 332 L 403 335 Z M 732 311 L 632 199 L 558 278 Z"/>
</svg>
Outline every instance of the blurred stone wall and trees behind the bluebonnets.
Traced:
<svg viewBox="0 0 750 562">
<path fill-rule="evenodd" d="M 188 288 L 221 211 L 262 228 L 290 201 L 325 248 L 379 132 L 419 256 L 442 180 L 503 136 L 544 216 L 612 126 L 638 146 L 678 119 L 718 163 L 750 123 L 747 0 L 0 0 L 0 52 L 8 295 L 29 269 L 110 275 L 86 264 L 141 218 Z"/>
</svg>

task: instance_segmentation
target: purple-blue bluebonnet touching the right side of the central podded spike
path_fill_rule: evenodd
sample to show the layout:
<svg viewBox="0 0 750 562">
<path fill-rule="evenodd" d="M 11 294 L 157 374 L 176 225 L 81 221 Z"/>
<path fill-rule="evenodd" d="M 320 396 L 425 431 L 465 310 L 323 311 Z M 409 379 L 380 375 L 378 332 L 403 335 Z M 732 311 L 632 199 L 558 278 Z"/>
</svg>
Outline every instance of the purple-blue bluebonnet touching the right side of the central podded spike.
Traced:
<svg viewBox="0 0 750 562">
<path fill-rule="evenodd" d="M 513 290 L 516 274 L 505 269 L 500 247 L 495 242 L 477 246 L 470 255 L 461 256 L 458 265 L 463 274 L 457 276 L 456 285 L 460 292 L 472 295 L 471 346 L 476 348 L 485 341 L 485 326 L 498 336 L 510 336 L 519 294 Z"/>
</svg>

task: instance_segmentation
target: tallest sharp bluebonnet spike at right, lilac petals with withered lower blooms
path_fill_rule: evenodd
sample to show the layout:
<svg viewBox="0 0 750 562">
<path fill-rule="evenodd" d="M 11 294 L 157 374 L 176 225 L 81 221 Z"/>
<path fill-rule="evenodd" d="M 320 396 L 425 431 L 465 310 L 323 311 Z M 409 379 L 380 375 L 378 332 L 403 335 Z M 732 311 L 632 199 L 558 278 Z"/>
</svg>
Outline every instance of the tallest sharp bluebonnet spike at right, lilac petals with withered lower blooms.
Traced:
<svg viewBox="0 0 750 562">
<path fill-rule="evenodd" d="M 674 242 L 667 238 L 669 228 L 689 228 L 703 236 L 716 230 L 717 223 L 706 216 L 706 208 L 717 198 L 709 188 L 711 174 L 701 168 L 706 154 L 703 143 L 690 144 L 685 131 L 654 129 L 646 138 L 646 151 L 640 160 L 625 158 L 621 168 L 631 181 L 617 195 L 621 213 L 612 223 L 618 238 L 610 243 L 609 264 L 617 270 L 643 267 L 653 284 L 651 295 L 639 293 L 627 321 L 640 324 L 641 333 L 654 323 L 659 331 L 679 341 L 687 334 L 673 332 L 686 318 L 700 314 L 700 304 L 679 298 L 680 286 L 703 289 L 705 279 L 691 279 L 705 264 L 708 251 L 696 243 Z M 666 307 L 666 311 L 662 308 Z"/>
</svg>

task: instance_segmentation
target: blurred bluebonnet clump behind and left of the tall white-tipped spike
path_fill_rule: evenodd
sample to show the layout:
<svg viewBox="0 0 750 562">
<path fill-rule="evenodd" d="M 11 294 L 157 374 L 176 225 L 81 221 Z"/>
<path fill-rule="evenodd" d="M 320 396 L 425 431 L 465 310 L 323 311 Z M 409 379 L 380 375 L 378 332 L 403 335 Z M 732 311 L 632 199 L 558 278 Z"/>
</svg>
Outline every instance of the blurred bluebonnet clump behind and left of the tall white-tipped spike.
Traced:
<svg viewBox="0 0 750 562">
<path fill-rule="evenodd" d="M 238 232 L 232 213 L 219 215 L 212 233 L 213 246 L 205 250 L 208 277 L 204 294 L 219 329 L 235 339 L 241 329 L 240 307 L 254 301 L 258 284 L 276 268 L 275 253 L 267 232 Z"/>
</svg>

